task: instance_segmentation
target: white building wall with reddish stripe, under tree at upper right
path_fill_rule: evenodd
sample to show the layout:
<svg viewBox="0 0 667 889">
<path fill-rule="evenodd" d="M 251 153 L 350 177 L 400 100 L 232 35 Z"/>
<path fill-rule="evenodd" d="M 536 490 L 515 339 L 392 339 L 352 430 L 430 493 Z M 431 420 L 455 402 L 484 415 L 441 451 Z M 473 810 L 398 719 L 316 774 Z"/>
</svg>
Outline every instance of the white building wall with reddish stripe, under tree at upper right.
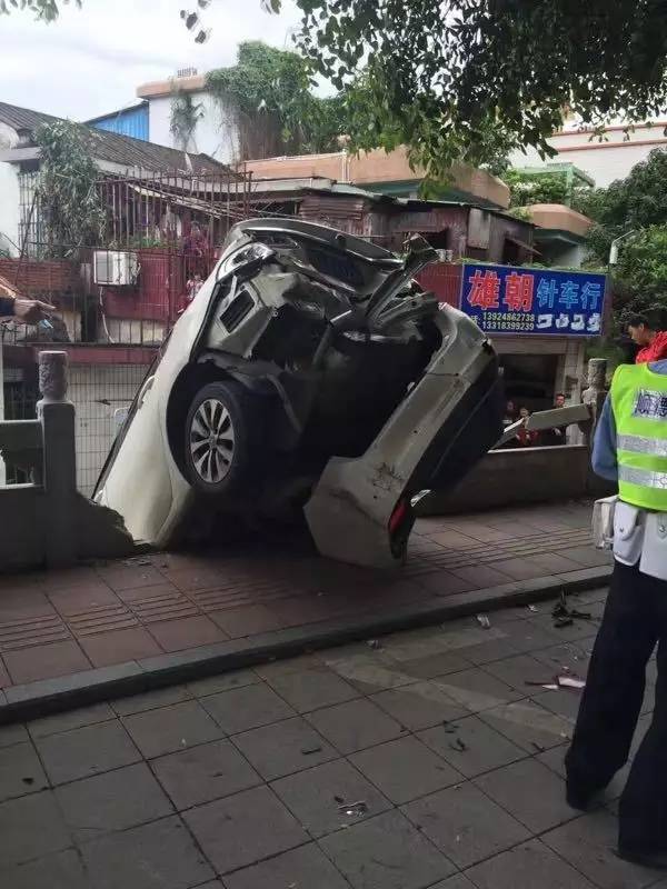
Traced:
<svg viewBox="0 0 667 889">
<path fill-rule="evenodd" d="M 654 127 L 638 127 L 629 133 L 629 140 L 624 141 L 625 133 L 621 129 L 611 129 L 606 132 L 606 141 L 599 142 L 598 137 L 591 139 L 590 132 L 563 132 L 548 140 L 558 154 L 547 159 L 547 163 L 574 163 L 588 173 L 596 186 L 608 186 L 615 179 L 625 179 L 636 163 L 639 163 L 656 148 L 667 149 L 667 137 L 663 136 L 665 124 L 656 123 Z M 512 167 L 544 167 L 535 149 L 515 151 L 510 154 Z"/>
</svg>

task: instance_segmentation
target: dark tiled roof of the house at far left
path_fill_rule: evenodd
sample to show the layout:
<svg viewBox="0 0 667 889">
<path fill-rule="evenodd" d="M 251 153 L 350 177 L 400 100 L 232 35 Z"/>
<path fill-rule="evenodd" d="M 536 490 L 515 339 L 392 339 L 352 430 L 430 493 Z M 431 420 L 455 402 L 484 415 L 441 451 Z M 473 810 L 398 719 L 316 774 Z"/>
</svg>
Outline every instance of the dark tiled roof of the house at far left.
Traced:
<svg viewBox="0 0 667 889">
<path fill-rule="evenodd" d="M 14 130 L 34 132 L 41 123 L 53 123 L 58 120 L 62 120 L 62 118 L 0 102 L 0 123 L 6 123 Z M 132 139 L 130 136 L 98 130 L 84 123 L 81 127 L 90 134 L 89 150 L 98 160 L 117 163 L 120 167 L 140 167 L 145 170 L 163 172 L 189 170 L 183 151 L 158 146 L 155 142 L 143 142 L 140 139 Z M 208 154 L 188 152 L 188 157 L 193 173 L 222 172 L 229 169 Z"/>
</svg>

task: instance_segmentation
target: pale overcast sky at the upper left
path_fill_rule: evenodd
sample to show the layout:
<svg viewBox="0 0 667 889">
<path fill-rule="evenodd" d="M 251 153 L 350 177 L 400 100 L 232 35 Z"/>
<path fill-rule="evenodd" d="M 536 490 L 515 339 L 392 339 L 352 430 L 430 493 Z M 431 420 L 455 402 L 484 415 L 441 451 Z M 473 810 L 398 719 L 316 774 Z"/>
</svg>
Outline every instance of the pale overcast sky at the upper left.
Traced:
<svg viewBox="0 0 667 889">
<path fill-rule="evenodd" d="M 299 11 L 283 0 L 279 16 L 260 0 L 212 0 L 201 12 L 211 29 L 198 46 L 180 19 L 195 0 L 83 0 L 62 7 L 51 24 L 30 12 L 0 14 L 0 101 L 86 120 L 137 102 L 136 89 L 180 68 L 200 73 L 233 64 L 237 44 L 291 46 Z"/>
</svg>

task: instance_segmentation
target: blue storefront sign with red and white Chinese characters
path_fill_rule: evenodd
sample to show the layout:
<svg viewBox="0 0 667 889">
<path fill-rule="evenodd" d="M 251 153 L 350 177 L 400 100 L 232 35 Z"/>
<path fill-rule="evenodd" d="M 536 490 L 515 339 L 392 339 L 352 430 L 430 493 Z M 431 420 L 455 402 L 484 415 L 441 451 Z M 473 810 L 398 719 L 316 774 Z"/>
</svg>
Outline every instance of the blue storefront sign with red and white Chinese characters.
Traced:
<svg viewBox="0 0 667 889">
<path fill-rule="evenodd" d="M 606 276 L 514 266 L 464 266 L 461 310 L 489 333 L 598 337 Z"/>
</svg>

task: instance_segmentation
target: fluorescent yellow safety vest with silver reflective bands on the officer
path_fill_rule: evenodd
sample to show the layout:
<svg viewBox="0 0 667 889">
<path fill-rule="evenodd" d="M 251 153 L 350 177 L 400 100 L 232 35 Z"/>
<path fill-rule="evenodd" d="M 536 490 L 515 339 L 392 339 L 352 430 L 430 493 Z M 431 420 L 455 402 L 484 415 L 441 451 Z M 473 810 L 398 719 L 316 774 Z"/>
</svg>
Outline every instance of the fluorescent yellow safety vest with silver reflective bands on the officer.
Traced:
<svg viewBox="0 0 667 889">
<path fill-rule="evenodd" d="M 611 382 L 618 493 L 635 507 L 667 512 L 667 376 L 621 364 Z"/>
</svg>

